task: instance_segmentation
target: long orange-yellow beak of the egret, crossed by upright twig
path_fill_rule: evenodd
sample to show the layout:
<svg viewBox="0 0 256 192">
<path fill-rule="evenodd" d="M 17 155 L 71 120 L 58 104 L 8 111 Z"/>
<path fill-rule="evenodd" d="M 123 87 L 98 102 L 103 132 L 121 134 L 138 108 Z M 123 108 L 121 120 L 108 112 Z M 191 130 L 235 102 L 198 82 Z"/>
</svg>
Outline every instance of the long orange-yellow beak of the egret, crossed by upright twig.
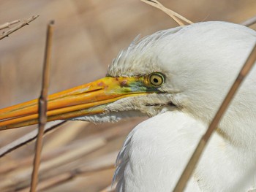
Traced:
<svg viewBox="0 0 256 192">
<path fill-rule="evenodd" d="M 47 120 L 67 120 L 105 112 L 105 106 L 128 96 L 158 92 L 146 77 L 105 77 L 48 96 Z M 38 123 L 38 99 L 0 110 L 0 130 Z"/>
</svg>

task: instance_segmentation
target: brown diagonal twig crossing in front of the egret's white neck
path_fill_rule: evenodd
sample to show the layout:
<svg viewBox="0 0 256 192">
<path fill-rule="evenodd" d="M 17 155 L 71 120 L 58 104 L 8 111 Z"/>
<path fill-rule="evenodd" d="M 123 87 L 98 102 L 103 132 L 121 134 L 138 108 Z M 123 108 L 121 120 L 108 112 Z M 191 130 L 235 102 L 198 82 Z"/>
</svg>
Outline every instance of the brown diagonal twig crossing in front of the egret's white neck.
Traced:
<svg viewBox="0 0 256 192">
<path fill-rule="evenodd" d="M 235 96 L 236 91 L 241 85 L 241 82 L 243 82 L 246 75 L 252 69 L 252 66 L 254 66 L 255 61 L 256 61 L 256 44 L 255 44 L 255 47 L 252 49 L 252 52 L 250 53 L 249 57 L 247 58 L 244 66 L 242 67 L 241 71 L 239 72 L 238 77 L 236 78 L 236 81 L 233 83 L 232 87 L 230 88 L 230 91 L 227 93 L 227 96 L 222 102 L 222 105 L 219 107 L 219 110 L 217 111 L 214 119 L 211 121 L 210 125 L 208 126 L 206 134 L 204 134 L 203 137 L 200 139 L 200 142 L 198 143 L 197 148 L 195 149 L 192 157 L 190 158 L 189 163 L 184 169 L 184 172 L 181 174 L 181 177 L 179 178 L 178 183 L 174 188 L 174 191 L 176 192 L 184 191 L 184 188 L 187 185 L 187 181 L 189 180 L 192 172 L 194 171 L 195 166 L 197 165 L 197 161 L 199 160 L 200 155 L 203 153 L 203 150 L 206 147 L 206 144 L 210 139 L 211 134 L 214 132 L 219 121 L 222 119 L 222 116 L 227 110 L 227 107 L 230 104 L 230 101 L 232 101 L 233 96 Z"/>
</svg>

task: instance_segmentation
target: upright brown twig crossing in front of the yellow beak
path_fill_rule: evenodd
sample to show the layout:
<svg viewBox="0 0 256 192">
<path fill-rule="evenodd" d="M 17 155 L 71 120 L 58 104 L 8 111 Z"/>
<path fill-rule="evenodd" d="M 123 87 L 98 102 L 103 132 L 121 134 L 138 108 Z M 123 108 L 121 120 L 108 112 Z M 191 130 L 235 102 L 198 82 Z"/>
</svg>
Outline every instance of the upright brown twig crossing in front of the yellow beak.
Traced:
<svg viewBox="0 0 256 192">
<path fill-rule="evenodd" d="M 48 97 L 48 85 L 50 79 L 50 58 L 52 52 L 52 39 L 53 39 L 53 20 L 48 24 L 47 39 L 45 46 L 45 61 L 42 75 L 42 91 L 39 97 L 39 128 L 36 142 L 36 151 L 34 156 L 34 166 L 31 176 L 31 188 L 30 191 L 34 192 L 37 188 L 38 169 L 42 151 L 42 136 L 44 134 L 45 124 L 47 122 L 47 97 Z"/>
</svg>

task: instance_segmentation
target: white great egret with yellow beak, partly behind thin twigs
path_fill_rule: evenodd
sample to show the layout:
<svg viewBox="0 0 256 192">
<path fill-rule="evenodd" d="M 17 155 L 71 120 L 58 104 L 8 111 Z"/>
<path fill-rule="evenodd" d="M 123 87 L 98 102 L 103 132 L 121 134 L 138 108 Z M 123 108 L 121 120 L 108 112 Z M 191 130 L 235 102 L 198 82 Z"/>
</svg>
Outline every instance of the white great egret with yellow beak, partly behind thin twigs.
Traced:
<svg viewBox="0 0 256 192">
<path fill-rule="evenodd" d="M 150 118 L 118 155 L 118 191 L 170 191 L 256 42 L 256 32 L 205 22 L 135 40 L 107 77 L 49 96 L 48 120 Z M 188 191 L 255 188 L 256 70 L 252 69 L 190 180 Z M 0 129 L 37 123 L 37 99 L 0 110 Z"/>
</svg>

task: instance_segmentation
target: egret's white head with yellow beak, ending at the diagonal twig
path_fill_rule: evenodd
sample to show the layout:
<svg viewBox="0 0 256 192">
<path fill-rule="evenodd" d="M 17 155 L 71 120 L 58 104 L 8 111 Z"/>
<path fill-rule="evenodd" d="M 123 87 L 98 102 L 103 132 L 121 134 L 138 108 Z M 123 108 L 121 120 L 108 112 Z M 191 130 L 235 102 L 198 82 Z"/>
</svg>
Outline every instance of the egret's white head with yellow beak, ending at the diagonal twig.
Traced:
<svg viewBox="0 0 256 192">
<path fill-rule="evenodd" d="M 159 31 L 119 53 L 107 77 L 49 96 L 48 120 L 117 121 L 182 110 L 206 121 L 255 43 L 255 31 L 206 22 Z M 0 127 L 37 123 L 37 100 L 0 110 Z"/>
</svg>

